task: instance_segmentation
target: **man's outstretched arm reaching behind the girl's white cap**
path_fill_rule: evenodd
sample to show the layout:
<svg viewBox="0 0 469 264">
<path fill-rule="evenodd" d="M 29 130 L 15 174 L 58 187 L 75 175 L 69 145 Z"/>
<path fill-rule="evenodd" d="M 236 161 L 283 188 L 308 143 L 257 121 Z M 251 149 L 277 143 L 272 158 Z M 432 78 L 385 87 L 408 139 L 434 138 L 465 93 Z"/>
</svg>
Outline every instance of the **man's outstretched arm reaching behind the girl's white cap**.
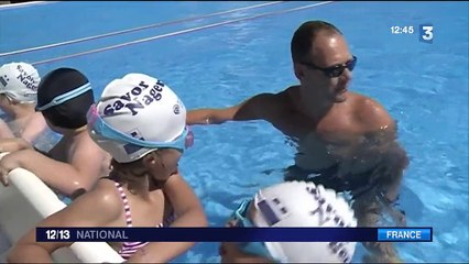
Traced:
<svg viewBox="0 0 469 264">
<path fill-rule="evenodd" d="M 227 121 L 265 119 L 270 114 L 274 94 L 260 94 L 228 108 L 205 108 L 187 112 L 187 124 L 220 124 Z"/>
</svg>

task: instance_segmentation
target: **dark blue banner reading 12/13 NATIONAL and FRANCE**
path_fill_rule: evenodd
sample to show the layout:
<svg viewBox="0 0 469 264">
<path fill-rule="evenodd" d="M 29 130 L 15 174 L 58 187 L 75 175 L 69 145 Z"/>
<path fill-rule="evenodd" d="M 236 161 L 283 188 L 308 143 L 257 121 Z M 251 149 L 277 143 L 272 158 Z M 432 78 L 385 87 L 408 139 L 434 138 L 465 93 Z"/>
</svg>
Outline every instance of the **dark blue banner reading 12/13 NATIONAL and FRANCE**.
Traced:
<svg viewBox="0 0 469 264">
<path fill-rule="evenodd" d="M 432 242 L 432 228 L 36 228 L 37 242 Z"/>
</svg>

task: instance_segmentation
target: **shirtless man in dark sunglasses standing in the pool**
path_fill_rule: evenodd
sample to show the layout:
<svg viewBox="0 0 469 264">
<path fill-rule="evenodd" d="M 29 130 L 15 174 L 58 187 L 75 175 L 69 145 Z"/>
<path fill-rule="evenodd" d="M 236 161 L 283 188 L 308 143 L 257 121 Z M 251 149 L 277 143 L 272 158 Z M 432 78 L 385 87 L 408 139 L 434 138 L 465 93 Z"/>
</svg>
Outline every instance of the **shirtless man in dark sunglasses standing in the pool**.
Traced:
<svg viewBox="0 0 469 264">
<path fill-rule="evenodd" d="M 407 157 L 396 143 L 396 125 L 375 100 L 348 91 L 357 57 L 341 32 L 324 21 L 302 24 L 291 43 L 299 85 L 260 94 L 225 109 L 196 109 L 188 124 L 265 120 L 297 143 L 287 180 L 306 179 L 351 191 L 361 227 L 375 227 L 399 196 Z M 393 215 L 403 218 L 395 210 Z M 367 261 L 399 262 L 390 243 L 366 243 Z"/>
</svg>

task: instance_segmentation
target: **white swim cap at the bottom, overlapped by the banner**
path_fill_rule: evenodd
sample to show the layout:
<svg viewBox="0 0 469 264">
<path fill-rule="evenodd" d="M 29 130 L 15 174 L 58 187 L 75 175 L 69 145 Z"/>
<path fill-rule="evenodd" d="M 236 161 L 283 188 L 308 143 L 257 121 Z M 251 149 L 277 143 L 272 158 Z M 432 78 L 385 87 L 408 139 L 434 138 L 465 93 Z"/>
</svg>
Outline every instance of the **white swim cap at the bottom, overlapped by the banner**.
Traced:
<svg viewBox="0 0 469 264">
<path fill-rule="evenodd" d="M 274 185 L 255 194 L 253 202 L 255 212 L 251 221 L 257 227 L 357 227 L 357 219 L 347 201 L 334 190 L 313 183 L 287 182 Z M 265 248 L 272 257 L 283 263 L 348 263 L 355 254 L 356 244 L 265 242 Z"/>
</svg>

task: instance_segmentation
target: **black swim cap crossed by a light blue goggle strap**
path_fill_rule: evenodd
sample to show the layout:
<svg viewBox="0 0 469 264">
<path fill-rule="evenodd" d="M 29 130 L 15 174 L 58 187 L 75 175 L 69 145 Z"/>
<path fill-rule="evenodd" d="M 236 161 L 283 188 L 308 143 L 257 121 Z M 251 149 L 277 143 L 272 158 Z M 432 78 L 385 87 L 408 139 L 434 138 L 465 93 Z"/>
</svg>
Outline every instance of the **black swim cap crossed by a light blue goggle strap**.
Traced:
<svg viewBox="0 0 469 264">
<path fill-rule="evenodd" d="M 88 78 L 77 69 L 54 69 L 42 78 L 37 87 L 37 107 L 87 82 L 89 82 Z M 43 110 L 42 114 L 57 128 L 78 129 L 87 124 L 86 113 L 94 101 L 92 90 L 88 90 L 58 106 Z"/>
</svg>

